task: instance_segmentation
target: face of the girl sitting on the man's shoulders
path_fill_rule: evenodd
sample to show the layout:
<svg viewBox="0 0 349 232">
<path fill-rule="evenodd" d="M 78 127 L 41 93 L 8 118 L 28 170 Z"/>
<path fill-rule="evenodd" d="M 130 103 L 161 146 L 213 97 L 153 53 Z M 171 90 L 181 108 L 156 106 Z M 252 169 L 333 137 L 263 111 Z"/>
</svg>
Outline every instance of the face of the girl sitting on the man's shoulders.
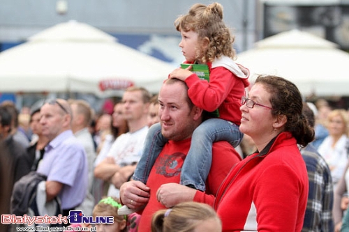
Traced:
<svg viewBox="0 0 349 232">
<path fill-rule="evenodd" d="M 198 45 L 198 33 L 195 31 L 181 31 L 181 52 L 186 61 L 193 62 L 196 59 L 196 47 Z"/>
</svg>

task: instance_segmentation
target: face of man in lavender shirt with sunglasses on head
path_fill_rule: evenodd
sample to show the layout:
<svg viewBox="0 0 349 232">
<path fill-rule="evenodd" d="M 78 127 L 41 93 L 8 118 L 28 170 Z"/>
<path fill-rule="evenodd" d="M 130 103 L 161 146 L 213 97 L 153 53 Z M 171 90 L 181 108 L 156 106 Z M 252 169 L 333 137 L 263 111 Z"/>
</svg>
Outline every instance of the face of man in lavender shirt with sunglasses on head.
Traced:
<svg viewBox="0 0 349 232">
<path fill-rule="evenodd" d="M 58 134 L 66 130 L 70 123 L 67 119 L 68 114 L 62 111 L 57 105 L 45 103 L 40 109 L 40 124 L 42 125 L 42 133 L 50 140 L 57 137 Z M 68 124 L 67 124 L 68 123 Z"/>
</svg>

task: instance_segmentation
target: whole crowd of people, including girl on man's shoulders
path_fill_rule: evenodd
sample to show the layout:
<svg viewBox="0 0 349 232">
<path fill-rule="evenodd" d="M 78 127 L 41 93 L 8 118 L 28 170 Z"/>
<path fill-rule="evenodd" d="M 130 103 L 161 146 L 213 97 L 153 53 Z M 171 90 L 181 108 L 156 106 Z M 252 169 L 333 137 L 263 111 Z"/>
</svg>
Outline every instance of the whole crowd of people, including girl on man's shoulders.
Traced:
<svg viewBox="0 0 349 232">
<path fill-rule="evenodd" d="M 174 26 L 189 66 L 156 94 L 131 86 L 101 114 L 77 99 L 1 103 L 1 214 L 113 218 L 47 224 L 71 231 L 349 231 L 348 111 L 304 102 L 287 78 L 250 86 L 220 3 Z"/>
</svg>

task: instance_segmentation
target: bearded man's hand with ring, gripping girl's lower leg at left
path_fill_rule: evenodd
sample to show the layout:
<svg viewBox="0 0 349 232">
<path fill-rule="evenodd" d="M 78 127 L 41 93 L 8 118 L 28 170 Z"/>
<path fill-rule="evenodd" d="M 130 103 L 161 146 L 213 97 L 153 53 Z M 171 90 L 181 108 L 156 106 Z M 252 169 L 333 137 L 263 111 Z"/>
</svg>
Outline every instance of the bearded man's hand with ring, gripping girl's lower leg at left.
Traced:
<svg viewBox="0 0 349 232">
<path fill-rule="evenodd" d="M 149 201 L 150 188 L 140 181 L 131 180 L 121 185 L 120 199 L 128 208 L 139 208 Z"/>
</svg>

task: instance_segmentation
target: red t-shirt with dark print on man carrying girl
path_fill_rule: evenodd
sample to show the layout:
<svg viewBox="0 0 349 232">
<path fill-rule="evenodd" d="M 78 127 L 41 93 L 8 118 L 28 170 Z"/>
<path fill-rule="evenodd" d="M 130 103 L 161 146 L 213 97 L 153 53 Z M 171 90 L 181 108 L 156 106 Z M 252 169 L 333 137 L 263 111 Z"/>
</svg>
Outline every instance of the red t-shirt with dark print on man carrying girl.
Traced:
<svg viewBox="0 0 349 232">
<path fill-rule="evenodd" d="M 158 188 L 165 183 L 179 183 L 181 167 L 191 145 L 191 138 L 184 141 L 168 141 L 156 159 L 149 173 L 147 186 L 150 187 L 150 198 L 142 212 L 138 231 L 151 231 L 151 218 L 154 212 L 165 208 L 156 199 Z M 212 164 L 206 181 L 206 191 L 197 191 L 194 201 L 208 203 L 213 206 L 214 196 L 228 175 L 231 167 L 241 160 L 241 157 L 226 141 L 214 143 L 212 148 Z"/>
</svg>

